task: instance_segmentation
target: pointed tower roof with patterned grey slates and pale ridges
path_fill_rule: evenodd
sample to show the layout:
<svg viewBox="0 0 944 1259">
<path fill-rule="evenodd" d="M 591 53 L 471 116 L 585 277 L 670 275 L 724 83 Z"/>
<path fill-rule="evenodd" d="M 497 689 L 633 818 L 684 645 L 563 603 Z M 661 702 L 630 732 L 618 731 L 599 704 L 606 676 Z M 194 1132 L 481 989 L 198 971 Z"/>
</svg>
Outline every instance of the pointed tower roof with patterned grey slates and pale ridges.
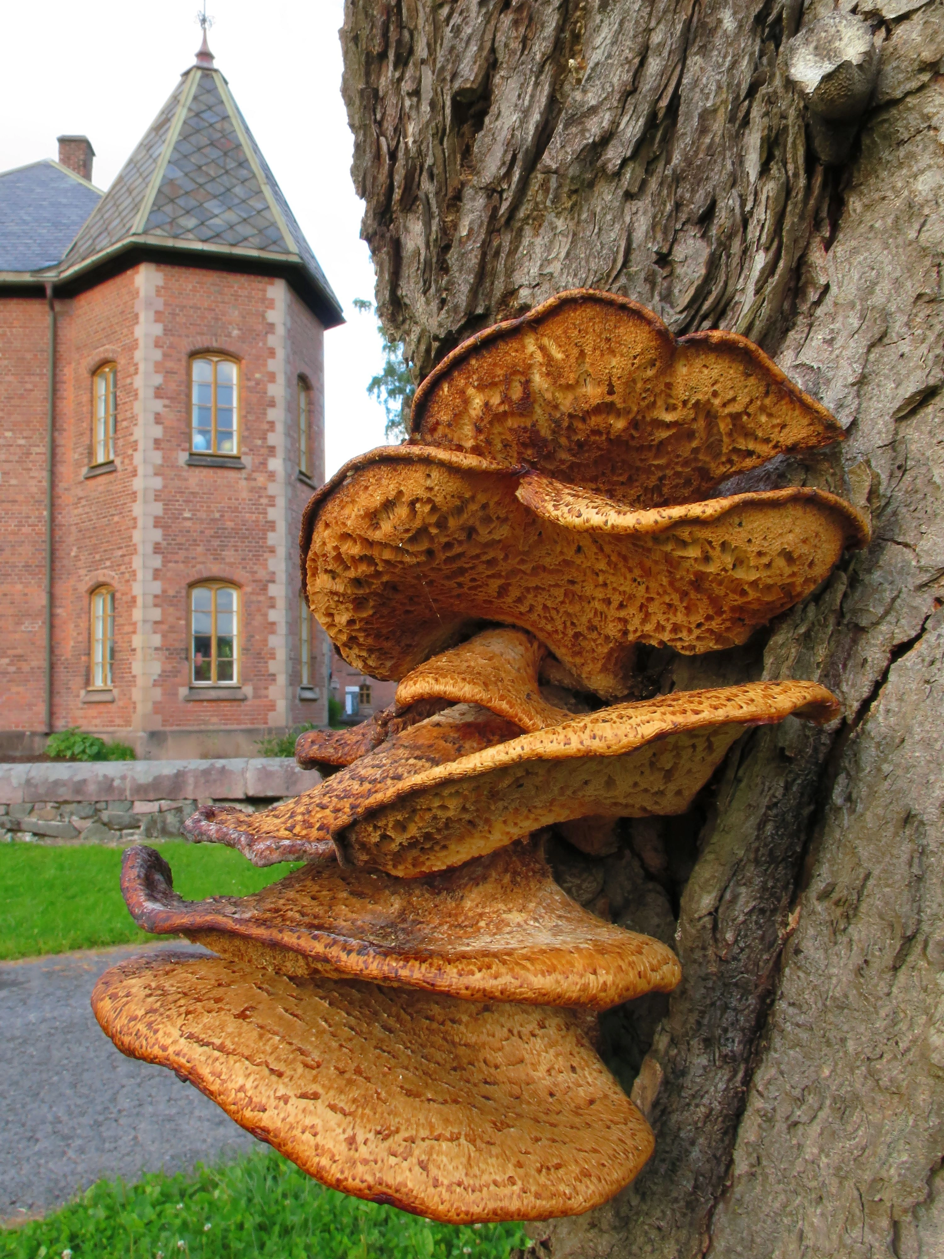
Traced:
<svg viewBox="0 0 944 1259">
<path fill-rule="evenodd" d="M 206 44 L 59 264 L 70 281 L 128 251 L 283 271 L 326 327 L 341 305 Z M 218 263 L 219 264 L 219 263 Z"/>
</svg>

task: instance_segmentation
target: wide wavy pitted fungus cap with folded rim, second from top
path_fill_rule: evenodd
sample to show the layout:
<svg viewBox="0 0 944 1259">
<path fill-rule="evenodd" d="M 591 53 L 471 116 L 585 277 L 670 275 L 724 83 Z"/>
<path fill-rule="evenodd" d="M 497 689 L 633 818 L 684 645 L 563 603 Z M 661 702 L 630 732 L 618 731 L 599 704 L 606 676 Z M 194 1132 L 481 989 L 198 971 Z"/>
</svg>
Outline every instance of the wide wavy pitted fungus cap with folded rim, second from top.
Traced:
<svg viewBox="0 0 944 1259">
<path fill-rule="evenodd" d="M 308 606 L 365 674 L 400 679 L 497 621 L 609 699 L 629 689 L 637 642 L 686 655 L 745 642 L 866 538 L 819 490 L 637 511 L 418 446 L 354 460 L 302 524 Z"/>
</svg>

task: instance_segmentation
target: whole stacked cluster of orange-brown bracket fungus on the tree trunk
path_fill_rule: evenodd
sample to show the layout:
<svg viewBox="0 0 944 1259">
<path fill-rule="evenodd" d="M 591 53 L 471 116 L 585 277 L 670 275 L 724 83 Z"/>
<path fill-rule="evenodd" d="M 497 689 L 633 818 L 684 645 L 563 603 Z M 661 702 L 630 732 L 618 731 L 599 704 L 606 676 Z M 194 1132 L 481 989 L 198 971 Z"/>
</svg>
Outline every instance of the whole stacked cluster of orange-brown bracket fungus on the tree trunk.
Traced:
<svg viewBox="0 0 944 1259">
<path fill-rule="evenodd" d="M 188 820 L 257 865 L 306 862 L 263 891 L 186 901 L 128 850 L 135 920 L 210 952 L 122 962 L 93 1008 L 326 1185 L 457 1224 L 574 1215 L 655 1139 L 594 1011 L 681 967 L 566 894 L 544 828 L 574 859 L 614 852 L 619 818 L 687 810 L 748 728 L 833 720 L 802 680 L 618 701 L 638 643 L 744 642 L 868 528 L 814 488 L 711 497 L 840 426 L 743 337 L 676 340 L 607 293 L 459 346 L 413 424 L 323 486 L 301 535 L 311 609 L 398 681 L 393 706 L 300 738 L 330 772 L 312 791 Z"/>
</svg>

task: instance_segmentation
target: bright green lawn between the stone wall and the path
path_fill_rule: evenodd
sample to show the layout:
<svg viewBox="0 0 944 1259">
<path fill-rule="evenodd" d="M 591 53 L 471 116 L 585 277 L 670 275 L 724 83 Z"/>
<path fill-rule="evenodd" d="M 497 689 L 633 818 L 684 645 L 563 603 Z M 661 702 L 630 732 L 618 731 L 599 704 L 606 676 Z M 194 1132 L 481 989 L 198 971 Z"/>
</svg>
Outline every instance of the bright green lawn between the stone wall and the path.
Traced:
<svg viewBox="0 0 944 1259">
<path fill-rule="evenodd" d="M 154 840 L 181 896 L 244 896 L 296 869 L 257 870 L 216 844 Z M 99 845 L 0 844 L 0 961 L 156 939 L 135 927 L 121 896 L 121 850 Z"/>
</svg>

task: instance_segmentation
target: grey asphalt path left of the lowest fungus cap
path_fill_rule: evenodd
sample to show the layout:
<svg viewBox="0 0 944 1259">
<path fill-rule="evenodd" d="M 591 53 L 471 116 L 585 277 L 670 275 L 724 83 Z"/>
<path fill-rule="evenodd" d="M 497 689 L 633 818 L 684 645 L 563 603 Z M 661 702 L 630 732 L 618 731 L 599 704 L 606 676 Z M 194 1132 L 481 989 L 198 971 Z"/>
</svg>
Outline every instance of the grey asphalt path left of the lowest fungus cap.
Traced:
<svg viewBox="0 0 944 1259">
<path fill-rule="evenodd" d="M 140 952 L 0 963 L 0 1219 L 44 1214 L 102 1176 L 181 1171 L 257 1144 L 172 1071 L 120 1054 L 96 1022 L 96 980 Z"/>
</svg>

